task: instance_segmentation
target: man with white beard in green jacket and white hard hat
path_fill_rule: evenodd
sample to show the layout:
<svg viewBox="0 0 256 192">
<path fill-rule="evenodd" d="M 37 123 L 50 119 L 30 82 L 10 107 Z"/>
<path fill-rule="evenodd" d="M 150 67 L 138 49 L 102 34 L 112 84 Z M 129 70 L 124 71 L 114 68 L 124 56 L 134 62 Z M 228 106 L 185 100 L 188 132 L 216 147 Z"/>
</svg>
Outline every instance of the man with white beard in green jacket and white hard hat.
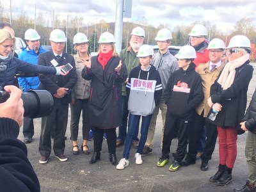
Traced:
<svg viewBox="0 0 256 192">
<path fill-rule="evenodd" d="M 143 40 L 145 37 L 145 31 L 141 27 L 136 27 L 132 29 L 131 33 L 130 46 L 128 48 L 123 49 L 120 52 L 120 57 L 122 58 L 124 64 L 127 68 L 127 76 L 132 70 L 132 68 L 140 65 L 140 60 L 137 57 L 138 51 L 143 44 Z M 124 145 L 125 137 L 126 137 L 126 127 L 127 127 L 127 117 L 129 115 L 128 111 L 128 99 L 126 97 L 125 85 L 128 82 L 128 78 L 125 83 L 122 84 L 122 110 L 123 110 L 123 125 L 118 129 L 118 137 L 116 140 L 116 147 L 120 147 Z M 136 125 L 136 131 L 134 133 L 134 138 L 132 141 L 132 146 L 134 148 L 138 148 L 138 132 L 139 132 L 139 124 Z"/>
</svg>

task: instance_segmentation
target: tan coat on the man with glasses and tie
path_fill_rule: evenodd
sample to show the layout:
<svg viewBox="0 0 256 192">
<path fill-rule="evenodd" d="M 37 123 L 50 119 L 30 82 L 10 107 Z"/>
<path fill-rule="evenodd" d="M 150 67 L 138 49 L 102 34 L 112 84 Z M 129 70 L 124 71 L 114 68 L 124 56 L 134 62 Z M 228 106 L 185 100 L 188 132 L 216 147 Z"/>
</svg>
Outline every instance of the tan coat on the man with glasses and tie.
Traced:
<svg viewBox="0 0 256 192">
<path fill-rule="evenodd" d="M 222 63 L 219 67 L 214 68 L 214 70 L 211 72 L 209 68 L 209 63 L 200 64 L 196 68 L 196 72 L 200 75 L 202 79 L 202 86 L 203 86 L 203 91 L 204 91 L 204 100 L 201 102 L 201 104 L 196 108 L 196 112 L 198 115 L 201 115 L 202 112 L 204 111 L 204 117 L 207 116 L 209 113 L 209 110 L 211 109 L 208 104 L 207 104 L 207 99 L 211 96 L 210 91 L 211 91 L 211 86 L 214 83 L 214 81 L 217 79 L 219 76 L 222 68 L 224 67 L 224 63 Z"/>
</svg>

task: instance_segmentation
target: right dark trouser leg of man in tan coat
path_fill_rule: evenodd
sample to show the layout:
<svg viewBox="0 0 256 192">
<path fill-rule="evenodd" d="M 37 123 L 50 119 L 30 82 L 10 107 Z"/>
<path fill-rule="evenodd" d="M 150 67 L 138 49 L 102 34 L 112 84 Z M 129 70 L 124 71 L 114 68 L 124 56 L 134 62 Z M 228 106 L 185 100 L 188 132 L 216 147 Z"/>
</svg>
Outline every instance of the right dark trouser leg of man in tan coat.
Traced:
<svg viewBox="0 0 256 192">
<path fill-rule="evenodd" d="M 218 137 L 218 131 L 216 125 L 213 125 L 207 121 L 205 121 L 205 129 L 206 129 L 206 143 L 204 148 L 204 153 L 201 156 L 202 161 L 209 161 L 212 159 L 212 153 L 214 152 L 214 148 L 216 145 L 216 140 Z"/>
</svg>

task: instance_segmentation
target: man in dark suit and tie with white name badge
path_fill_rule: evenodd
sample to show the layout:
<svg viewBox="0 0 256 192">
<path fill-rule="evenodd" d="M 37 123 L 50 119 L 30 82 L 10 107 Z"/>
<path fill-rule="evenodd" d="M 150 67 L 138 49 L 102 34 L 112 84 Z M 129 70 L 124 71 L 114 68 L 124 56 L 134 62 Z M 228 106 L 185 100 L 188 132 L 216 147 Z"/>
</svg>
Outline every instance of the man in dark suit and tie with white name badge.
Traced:
<svg viewBox="0 0 256 192">
<path fill-rule="evenodd" d="M 39 88 L 48 90 L 52 93 L 54 106 L 49 116 L 42 118 L 42 128 L 39 141 L 39 152 L 41 158 L 39 163 L 45 164 L 51 154 L 51 129 L 55 124 L 55 137 L 53 140 L 53 150 L 56 158 L 60 161 L 67 161 L 64 155 L 65 132 L 68 121 L 68 104 L 71 102 L 70 90 L 76 84 L 77 74 L 74 57 L 66 52 L 65 42 L 67 38 L 60 29 L 54 29 L 50 35 L 52 51 L 47 51 L 38 56 L 38 65 L 72 65 L 72 70 L 63 77 L 40 76 L 41 84 Z"/>
</svg>

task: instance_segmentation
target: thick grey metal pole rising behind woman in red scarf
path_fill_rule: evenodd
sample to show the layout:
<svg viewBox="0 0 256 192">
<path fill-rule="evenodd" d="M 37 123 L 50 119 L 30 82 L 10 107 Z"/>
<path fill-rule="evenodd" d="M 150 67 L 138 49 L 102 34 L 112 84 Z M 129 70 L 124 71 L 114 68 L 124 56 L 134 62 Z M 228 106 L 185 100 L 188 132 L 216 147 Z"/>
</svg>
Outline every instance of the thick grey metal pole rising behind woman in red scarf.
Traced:
<svg viewBox="0 0 256 192">
<path fill-rule="evenodd" d="M 116 0 L 115 41 L 116 51 L 122 50 L 124 0 Z"/>
</svg>

